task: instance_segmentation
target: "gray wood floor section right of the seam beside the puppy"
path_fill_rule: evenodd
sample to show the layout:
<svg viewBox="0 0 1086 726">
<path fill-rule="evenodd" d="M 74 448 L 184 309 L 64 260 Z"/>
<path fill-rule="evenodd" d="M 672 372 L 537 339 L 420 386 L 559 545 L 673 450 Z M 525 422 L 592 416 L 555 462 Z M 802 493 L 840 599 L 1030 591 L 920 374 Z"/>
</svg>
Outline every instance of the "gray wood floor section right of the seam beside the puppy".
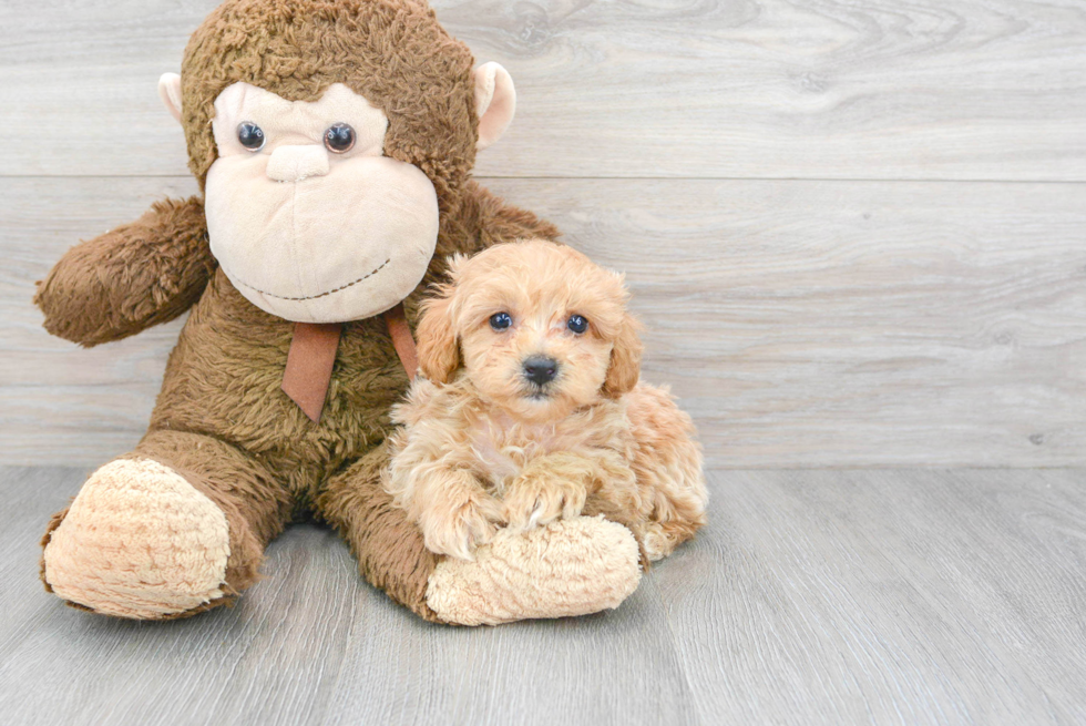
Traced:
<svg viewBox="0 0 1086 726">
<path fill-rule="evenodd" d="M 716 472 L 653 581 L 703 723 L 1082 723 L 1082 482 Z"/>
</svg>

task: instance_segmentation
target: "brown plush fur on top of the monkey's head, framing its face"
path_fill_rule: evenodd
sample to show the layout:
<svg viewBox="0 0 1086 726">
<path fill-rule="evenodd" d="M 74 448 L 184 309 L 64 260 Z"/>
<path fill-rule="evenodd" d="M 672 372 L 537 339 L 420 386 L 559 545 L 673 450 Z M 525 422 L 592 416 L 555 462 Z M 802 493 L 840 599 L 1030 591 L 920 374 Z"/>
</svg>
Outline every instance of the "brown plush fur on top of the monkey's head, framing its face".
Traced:
<svg viewBox="0 0 1086 726">
<path fill-rule="evenodd" d="M 224 62 L 226 60 L 227 62 Z M 450 202 L 474 164 L 472 57 L 424 3 L 404 0 L 225 2 L 185 50 L 182 122 L 201 181 L 216 159 L 212 104 L 239 81 L 288 101 L 346 84 L 385 111 L 385 153 L 414 164 Z"/>
</svg>

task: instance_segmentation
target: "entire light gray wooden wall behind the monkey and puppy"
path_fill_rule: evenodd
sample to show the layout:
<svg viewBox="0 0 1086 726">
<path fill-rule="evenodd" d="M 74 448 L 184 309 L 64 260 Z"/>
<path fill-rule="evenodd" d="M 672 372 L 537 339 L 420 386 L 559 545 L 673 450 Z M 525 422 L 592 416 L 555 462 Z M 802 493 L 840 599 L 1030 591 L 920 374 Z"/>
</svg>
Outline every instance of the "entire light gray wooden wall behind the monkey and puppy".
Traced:
<svg viewBox="0 0 1086 726">
<path fill-rule="evenodd" d="M 143 431 L 180 323 L 86 351 L 29 300 L 195 191 L 155 83 L 215 4 L 0 4 L 0 462 Z M 1083 2 L 432 4 L 519 89 L 478 175 L 628 273 L 714 467 L 1086 464 Z"/>
</svg>

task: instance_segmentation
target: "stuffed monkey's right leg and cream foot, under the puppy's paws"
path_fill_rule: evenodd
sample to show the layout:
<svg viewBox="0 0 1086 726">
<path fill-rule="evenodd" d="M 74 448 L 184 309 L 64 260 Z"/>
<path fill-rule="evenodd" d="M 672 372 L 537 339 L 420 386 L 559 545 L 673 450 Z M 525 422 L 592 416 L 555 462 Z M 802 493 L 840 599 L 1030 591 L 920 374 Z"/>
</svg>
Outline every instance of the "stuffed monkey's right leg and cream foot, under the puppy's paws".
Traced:
<svg viewBox="0 0 1086 726">
<path fill-rule="evenodd" d="M 473 561 L 439 558 L 381 487 L 387 464 L 382 443 L 330 479 L 317 508 L 350 543 L 362 575 L 427 620 L 494 625 L 585 615 L 617 607 L 637 587 L 637 542 L 603 518 L 501 530 Z"/>
</svg>

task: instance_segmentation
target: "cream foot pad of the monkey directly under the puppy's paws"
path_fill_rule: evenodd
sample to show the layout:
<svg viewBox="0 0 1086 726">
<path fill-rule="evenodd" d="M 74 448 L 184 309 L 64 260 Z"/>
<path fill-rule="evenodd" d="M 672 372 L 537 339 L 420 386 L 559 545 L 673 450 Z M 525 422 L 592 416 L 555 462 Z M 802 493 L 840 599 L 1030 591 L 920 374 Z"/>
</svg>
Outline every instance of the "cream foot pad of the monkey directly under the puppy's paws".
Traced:
<svg viewBox="0 0 1086 726">
<path fill-rule="evenodd" d="M 580 517 L 526 534 L 502 530 L 474 562 L 442 561 L 430 575 L 427 604 L 450 623 L 496 625 L 614 609 L 639 581 L 629 530 Z"/>
</svg>

